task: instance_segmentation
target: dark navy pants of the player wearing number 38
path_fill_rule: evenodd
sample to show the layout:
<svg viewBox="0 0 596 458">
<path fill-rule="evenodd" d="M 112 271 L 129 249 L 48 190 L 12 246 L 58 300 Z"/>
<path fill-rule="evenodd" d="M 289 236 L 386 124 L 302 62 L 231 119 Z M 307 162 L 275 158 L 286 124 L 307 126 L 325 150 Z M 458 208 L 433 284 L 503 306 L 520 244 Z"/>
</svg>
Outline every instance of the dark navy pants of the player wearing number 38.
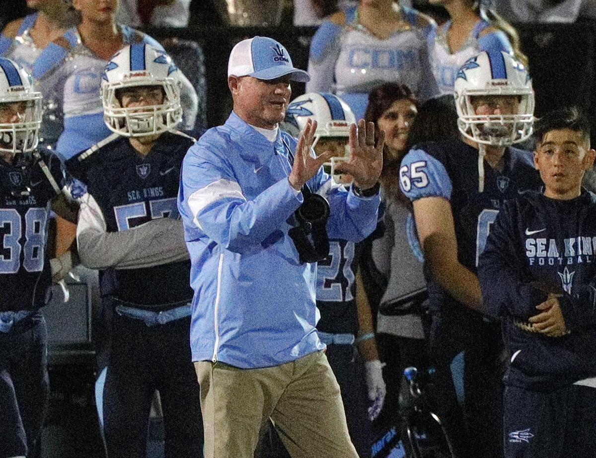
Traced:
<svg viewBox="0 0 596 458">
<path fill-rule="evenodd" d="M 48 402 L 47 341 L 38 314 L 0 332 L 0 458 L 35 454 Z"/>
</svg>

